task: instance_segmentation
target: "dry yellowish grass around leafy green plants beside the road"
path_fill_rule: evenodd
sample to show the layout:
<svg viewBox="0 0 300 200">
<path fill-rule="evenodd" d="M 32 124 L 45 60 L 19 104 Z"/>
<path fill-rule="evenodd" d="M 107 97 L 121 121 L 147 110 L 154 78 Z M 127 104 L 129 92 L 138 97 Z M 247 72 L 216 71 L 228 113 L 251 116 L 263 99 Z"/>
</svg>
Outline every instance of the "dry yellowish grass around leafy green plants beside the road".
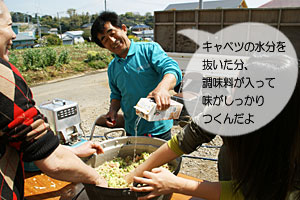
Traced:
<svg viewBox="0 0 300 200">
<path fill-rule="evenodd" d="M 87 59 L 88 51 L 97 51 L 101 54 L 107 55 L 108 58 L 111 58 L 110 52 L 105 49 L 98 47 L 94 43 L 85 43 L 80 45 L 63 45 L 63 46 L 53 46 L 57 55 L 59 55 L 63 50 L 69 51 L 71 61 L 69 64 L 63 64 L 61 66 L 49 66 L 46 68 L 39 68 L 36 70 L 22 70 L 23 67 L 23 58 L 22 55 L 26 49 L 22 50 L 12 50 L 14 58 L 11 58 L 14 61 L 13 64 L 21 71 L 22 76 L 26 80 L 27 84 L 30 86 L 36 85 L 41 82 L 50 81 L 59 78 L 65 78 L 68 76 L 73 76 L 79 73 L 86 73 L 91 71 L 96 71 L 97 67 L 90 65 L 88 62 L 85 62 Z M 58 57 L 58 56 L 57 56 Z M 107 59 L 110 61 L 111 59 Z M 108 63 L 106 61 L 105 66 L 107 67 Z"/>
</svg>

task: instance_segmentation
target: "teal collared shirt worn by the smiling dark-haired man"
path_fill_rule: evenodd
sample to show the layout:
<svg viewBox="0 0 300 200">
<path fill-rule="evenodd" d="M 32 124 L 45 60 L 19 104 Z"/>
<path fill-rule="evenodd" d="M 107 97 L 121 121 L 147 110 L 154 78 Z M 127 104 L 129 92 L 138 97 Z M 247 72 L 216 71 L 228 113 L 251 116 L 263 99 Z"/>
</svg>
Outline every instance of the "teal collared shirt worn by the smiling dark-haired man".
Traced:
<svg viewBox="0 0 300 200">
<path fill-rule="evenodd" d="M 125 59 L 115 55 L 108 67 L 110 99 L 121 102 L 125 118 L 125 130 L 135 135 L 137 115 L 134 106 L 156 88 L 165 74 L 174 74 L 177 84 L 182 79 L 181 70 L 175 60 L 156 42 L 133 42 Z M 137 132 L 160 135 L 173 126 L 173 120 L 148 122 L 141 119 Z"/>
</svg>

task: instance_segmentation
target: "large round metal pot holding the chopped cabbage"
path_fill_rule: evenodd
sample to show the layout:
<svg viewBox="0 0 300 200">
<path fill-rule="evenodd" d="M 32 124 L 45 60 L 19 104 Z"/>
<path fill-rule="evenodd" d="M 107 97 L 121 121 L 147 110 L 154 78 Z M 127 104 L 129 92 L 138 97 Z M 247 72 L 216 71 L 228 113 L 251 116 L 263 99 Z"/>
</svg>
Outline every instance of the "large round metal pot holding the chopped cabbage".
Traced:
<svg viewBox="0 0 300 200">
<path fill-rule="evenodd" d="M 86 163 L 91 167 L 96 168 L 105 161 L 110 161 L 117 156 L 133 156 L 135 148 L 137 154 L 142 152 L 152 153 L 165 142 L 166 141 L 162 139 L 144 136 L 119 137 L 106 140 L 100 143 L 104 149 L 104 154 L 94 155 L 88 161 L 86 161 Z M 169 164 L 175 167 L 175 171 L 173 173 L 177 175 L 180 170 L 181 158 L 175 159 Z M 145 193 L 136 193 L 130 191 L 129 188 L 105 188 L 91 184 L 84 184 L 84 187 L 90 200 L 136 200 L 138 196 L 146 195 Z M 170 198 L 171 194 L 161 195 L 153 199 L 168 200 Z"/>
</svg>

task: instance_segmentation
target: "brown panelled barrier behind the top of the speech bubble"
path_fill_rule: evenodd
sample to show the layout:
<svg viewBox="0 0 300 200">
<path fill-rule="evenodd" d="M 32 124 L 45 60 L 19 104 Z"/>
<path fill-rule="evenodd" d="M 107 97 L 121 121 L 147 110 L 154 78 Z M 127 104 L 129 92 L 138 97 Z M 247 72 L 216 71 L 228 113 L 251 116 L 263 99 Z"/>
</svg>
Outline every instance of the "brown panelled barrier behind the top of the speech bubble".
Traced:
<svg viewBox="0 0 300 200">
<path fill-rule="evenodd" d="M 192 28 L 216 33 L 227 26 L 242 22 L 260 22 L 283 32 L 300 57 L 300 8 L 256 8 L 156 11 L 154 40 L 167 52 L 193 53 L 197 45 L 180 34 Z"/>
</svg>

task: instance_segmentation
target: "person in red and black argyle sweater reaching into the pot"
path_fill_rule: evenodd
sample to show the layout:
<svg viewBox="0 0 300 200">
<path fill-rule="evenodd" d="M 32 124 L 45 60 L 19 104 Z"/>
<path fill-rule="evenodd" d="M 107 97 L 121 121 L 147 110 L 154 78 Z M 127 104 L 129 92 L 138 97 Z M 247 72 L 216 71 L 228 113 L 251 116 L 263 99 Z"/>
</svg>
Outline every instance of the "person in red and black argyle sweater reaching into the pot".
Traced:
<svg viewBox="0 0 300 200">
<path fill-rule="evenodd" d="M 24 199 L 24 161 L 33 161 L 59 180 L 106 186 L 106 181 L 76 156 L 101 153 L 101 147 L 91 142 L 73 152 L 63 147 L 35 108 L 25 80 L 8 62 L 16 38 L 11 26 L 10 13 L 0 0 L 0 199 Z"/>
</svg>

